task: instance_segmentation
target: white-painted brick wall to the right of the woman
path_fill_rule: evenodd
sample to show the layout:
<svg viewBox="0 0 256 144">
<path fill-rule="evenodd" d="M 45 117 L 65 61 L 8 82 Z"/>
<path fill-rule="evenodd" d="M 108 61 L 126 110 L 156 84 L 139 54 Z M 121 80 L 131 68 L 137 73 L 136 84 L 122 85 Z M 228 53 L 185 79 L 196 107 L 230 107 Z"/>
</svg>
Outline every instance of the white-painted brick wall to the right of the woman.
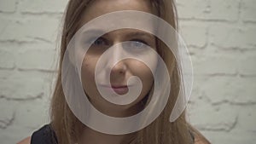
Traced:
<svg viewBox="0 0 256 144">
<path fill-rule="evenodd" d="M 195 70 L 191 123 L 212 143 L 255 143 L 256 1 L 177 3 Z"/>
</svg>

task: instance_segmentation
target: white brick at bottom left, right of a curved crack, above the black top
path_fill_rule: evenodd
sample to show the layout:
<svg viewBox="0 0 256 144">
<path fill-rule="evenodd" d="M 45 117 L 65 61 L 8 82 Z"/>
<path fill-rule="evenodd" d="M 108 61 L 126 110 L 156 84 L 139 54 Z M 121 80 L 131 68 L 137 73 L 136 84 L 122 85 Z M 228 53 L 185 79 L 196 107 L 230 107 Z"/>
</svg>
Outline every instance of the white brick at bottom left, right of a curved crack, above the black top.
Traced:
<svg viewBox="0 0 256 144">
<path fill-rule="evenodd" d="M 44 98 L 35 101 L 3 101 L 5 112 L 12 115 L 15 112 L 15 120 L 6 129 L 0 130 L 0 138 L 3 143 L 17 143 L 32 132 L 38 130 L 43 124 L 49 123 L 49 101 Z"/>
</svg>

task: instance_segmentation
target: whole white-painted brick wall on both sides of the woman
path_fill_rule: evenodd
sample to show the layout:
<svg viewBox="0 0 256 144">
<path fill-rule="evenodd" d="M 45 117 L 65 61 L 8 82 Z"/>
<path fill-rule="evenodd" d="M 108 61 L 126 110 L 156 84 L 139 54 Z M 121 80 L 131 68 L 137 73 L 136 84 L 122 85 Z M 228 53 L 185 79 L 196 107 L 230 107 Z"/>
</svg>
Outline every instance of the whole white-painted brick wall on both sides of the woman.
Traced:
<svg viewBox="0 0 256 144">
<path fill-rule="evenodd" d="M 49 123 L 67 0 L 0 0 L 0 143 Z M 177 0 L 194 66 L 189 121 L 213 144 L 256 141 L 256 0 Z"/>
</svg>

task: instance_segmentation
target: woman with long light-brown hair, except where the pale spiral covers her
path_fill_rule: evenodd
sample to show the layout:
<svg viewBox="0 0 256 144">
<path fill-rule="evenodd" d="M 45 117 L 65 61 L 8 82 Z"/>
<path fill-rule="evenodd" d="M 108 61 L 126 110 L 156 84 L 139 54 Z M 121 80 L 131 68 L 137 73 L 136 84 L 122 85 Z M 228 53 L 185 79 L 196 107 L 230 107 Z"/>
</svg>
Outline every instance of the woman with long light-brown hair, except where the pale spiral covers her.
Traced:
<svg viewBox="0 0 256 144">
<path fill-rule="evenodd" d="M 64 26 L 61 36 L 61 60 L 58 70 L 58 78 L 55 84 L 55 91 L 51 101 L 50 124 L 35 131 L 32 136 L 20 141 L 19 144 L 200 144 L 210 143 L 203 135 L 195 130 L 185 118 L 185 111 L 174 121 L 170 122 L 169 117 L 177 100 L 179 91 L 179 75 L 177 61 L 172 52 L 164 49 L 165 44 L 152 35 L 148 37 L 133 35 L 137 30 L 118 30 L 108 32 L 96 39 L 91 47 L 94 49 L 108 49 L 114 43 L 133 41 L 136 47 L 142 44 L 150 45 L 165 61 L 169 71 L 172 90 L 166 107 L 159 117 L 147 127 L 136 132 L 123 135 L 105 134 L 83 124 L 71 111 L 67 104 L 63 85 L 61 83 L 61 66 L 67 45 L 74 34 L 86 22 L 95 19 L 103 14 L 120 10 L 137 10 L 154 14 L 166 20 L 177 30 L 177 12 L 173 0 L 71 0 L 66 9 Z M 124 18 L 125 19 L 125 18 Z M 128 36 L 129 35 L 129 36 Z M 129 77 L 136 75 L 141 79 L 143 88 L 141 95 L 131 104 L 123 107 L 113 105 L 101 98 L 95 84 L 94 73 L 96 62 L 103 51 L 93 49 L 86 53 L 81 68 L 81 78 L 84 92 L 88 95 L 90 102 L 99 111 L 107 113 L 112 117 L 127 117 L 143 110 L 150 95 L 148 91 L 153 89 L 154 78 L 151 71 L 142 62 L 137 60 L 124 60 L 119 62 L 111 70 L 111 84 L 126 84 Z M 139 67 L 139 68 L 138 68 Z M 118 89 L 118 88 L 116 88 Z M 116 90 L 120 92 L 119 90 Z"/>
</svg>

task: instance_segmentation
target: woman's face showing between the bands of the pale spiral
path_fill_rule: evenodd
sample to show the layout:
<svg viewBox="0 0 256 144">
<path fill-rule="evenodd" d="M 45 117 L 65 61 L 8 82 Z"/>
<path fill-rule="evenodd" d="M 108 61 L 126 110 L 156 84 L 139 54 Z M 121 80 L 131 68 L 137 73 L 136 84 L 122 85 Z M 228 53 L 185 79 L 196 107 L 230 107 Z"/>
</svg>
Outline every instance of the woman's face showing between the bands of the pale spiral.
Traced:
<svg viewBox="0 0 256 144">
<path fill-rule="evenodd" d="M 102 14 L 108 14 L 110 12 L 119 10 L 138 10 L 153 14 L 148 0 L 96 0 L 86 7 L 81 25 L 84 25 L 86 22 L 93 20 Z M 108 32 L 102 37 L 97 38 L 97 40 L 90 46 L 90 49 L 84 56 L 81 70 L 84 91 L 86 95 L 88 95 L 90 102 L 99 111 L 113 117 L 125 117 L 127 115 L 132 115 L 139 112 L 142 109 L 140 101 L 142 101 L 143 97 L 148 94 L 149 90 L 154 84 L 154 78 L 151 70 L 140 60 L 120 60 L 111 68 L 111 63 L 121 55 L 123 50 L 122 47 L 113 49 L 112 46 L 125 41 L 132 41 L 130 44 L 131 47 L 129 47 L 131 51 L 133 49 L 140 49 L 145 44 L 149 45 L 152 49 L 156 49 L 154 36 L 146 32 L 135 29 L 121 29 Z M 95 75 L 96 64 L 100 56 L 107 51 L 111 51 L 111 56 L 109 56 L 108 60 L 105 61 L 103 66 L 104 69 Z M 148 60 L 150 65 L 155 68 L 157 65 L 156 56 L 147 56 L 148 58 L 146 58 L 146 60 Z M 108 68 L 111 68 L 111 85 L 106 85 L 105 83 L 108 80 L 106 77 L 104 77 L 106 76 Z M 128 89 L 132 87 L 132 85 L 127 84 L 127 81 L 129 78 L 131 78 L 131 76 L 137 76 L 140 78 L 143 88 L 140 95 L 137 97 L 137 100 L 131 102 L 130 104 L 113 104 L 105 100 L 96 88 L 95 78 L 98 77 L 102 78 L 102 80 L 99 82 L 100 85 L 102 84 L 102 86 L 105 88 L 107 87 L 109 89 L 113 89 L 119 95 L 125 95 L 128 92 Z"/>
</svg>

